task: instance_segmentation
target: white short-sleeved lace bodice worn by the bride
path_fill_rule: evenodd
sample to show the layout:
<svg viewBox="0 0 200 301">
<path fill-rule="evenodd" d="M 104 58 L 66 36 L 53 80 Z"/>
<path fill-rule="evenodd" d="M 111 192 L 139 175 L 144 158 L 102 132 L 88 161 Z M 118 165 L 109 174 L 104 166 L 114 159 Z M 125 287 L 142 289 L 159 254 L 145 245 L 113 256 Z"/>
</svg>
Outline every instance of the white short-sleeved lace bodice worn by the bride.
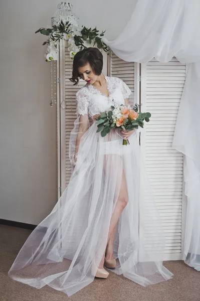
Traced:
<svg viewBox="0 0 200 301">
<path fill-rule="evenodd" d="M 91 118 L 109 110 L 112 104 L 124 104 L 124 99 L 133 94 L 118 77 L 105 76 L 109 96 L 102 94 L 93 85 L 86 84 L 76 93 L 76 114 L 88 114 Z"/>
</svg>

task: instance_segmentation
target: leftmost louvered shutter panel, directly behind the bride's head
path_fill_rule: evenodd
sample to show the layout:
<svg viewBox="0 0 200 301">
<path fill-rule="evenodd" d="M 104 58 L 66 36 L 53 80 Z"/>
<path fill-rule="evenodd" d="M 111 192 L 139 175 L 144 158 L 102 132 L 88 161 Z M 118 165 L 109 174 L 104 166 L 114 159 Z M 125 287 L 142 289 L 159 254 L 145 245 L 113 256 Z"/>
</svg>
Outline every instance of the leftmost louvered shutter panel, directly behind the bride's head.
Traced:
<svg viewBox="0 0 200 301">
<path fill-rule="evenodd" d="M 103 74 L 107 75 L 107 54 L 103 54 Z M 86 84 L 80 80 L 73 86 L 69 80 L 72 76 L 73 60 L 70 58 L 66 41 L 60 45 L 60 144 L 61 144 L 61 194 L 65 190 L 71 177 L 71 163 L 69 160 L 69 138 L 74 127 L 76 116 L 76 92 Z"/>
</svg>

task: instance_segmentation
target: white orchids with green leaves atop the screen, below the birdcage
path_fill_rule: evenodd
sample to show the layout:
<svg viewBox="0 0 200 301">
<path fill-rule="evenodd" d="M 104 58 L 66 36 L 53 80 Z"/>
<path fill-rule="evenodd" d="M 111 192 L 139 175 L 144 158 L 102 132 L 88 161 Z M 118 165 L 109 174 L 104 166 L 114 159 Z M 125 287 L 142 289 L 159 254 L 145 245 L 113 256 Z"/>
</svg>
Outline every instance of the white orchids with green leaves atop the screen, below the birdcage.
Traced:
<svg viewBox="0 0 200 301">
<path fill-rule="evenodd" d="M 62 20 L 57 24 L 51 26 L 51 28 L 40 28 L 35 32 L 41 33 L 42 35 L 48 36 L 49 39 L 43 43 L 43 45 L 47 44 L 47 51 L 45 54 L 46 62 L 56 61 L 58 60 L 58 48 L 57 45 L 60 43 L 60 40 L 67 41 L 67 47 L 70 52 L 71 59 L 74 59 L 75 54 L 87 48 L 84 45 L 84 41 L 88 41 L 89 44 L 97 47 L 99 49 L 103 49 L 105 52 L 109 50 L 109 47 L 101 40 L 104 36 L 104 32 L 99 34 L 99 31 L 96 29 L 86 28 L 85 26 L 78 26 L 71 24 L 69 21 L 64 23 Z"/>
</svg>

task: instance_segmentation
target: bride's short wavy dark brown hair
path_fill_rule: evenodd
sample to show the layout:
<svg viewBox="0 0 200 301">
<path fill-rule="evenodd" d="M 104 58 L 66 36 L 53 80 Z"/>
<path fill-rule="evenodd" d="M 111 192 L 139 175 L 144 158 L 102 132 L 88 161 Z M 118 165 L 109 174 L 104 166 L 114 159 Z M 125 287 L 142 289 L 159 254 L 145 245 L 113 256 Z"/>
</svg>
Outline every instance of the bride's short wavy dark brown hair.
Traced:
<svg viewBox="0 0 200 301">
<path fill-rule="evenodd" d="M 79 83 L 78 68 L 90 64 L 94 74 L 100 75 L 103 69 L 103 55 L 98 48 L 89 47 L 77 52 L 74 56 L 73 71 L 70 80 L 77 85 Z"/>
</svg>

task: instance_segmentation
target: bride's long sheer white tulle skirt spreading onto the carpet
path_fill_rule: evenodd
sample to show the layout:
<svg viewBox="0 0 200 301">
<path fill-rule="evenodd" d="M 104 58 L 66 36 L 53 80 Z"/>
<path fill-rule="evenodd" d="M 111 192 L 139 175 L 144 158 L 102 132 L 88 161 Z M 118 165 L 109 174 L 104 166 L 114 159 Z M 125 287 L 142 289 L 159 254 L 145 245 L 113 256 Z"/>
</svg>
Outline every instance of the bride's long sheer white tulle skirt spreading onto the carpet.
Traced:
<svg viewBox="0 0 200 301">
<path fill-rule="evenodd" d="M 94 120 L 90 126 L 87 117 L 80 125 L 79 115 L 70 136 L 71 160 L 80 128 L 84 133 L 70 182 L 52 212 L 28 237 L 10 277 L 36 288 L 48 284 L 68 296 L 91 283 L 106 248 L 123 177 L 128 203 L 117 223 L 117 266 L 112 271 L 143 286 L 170 279 L 172 273 L 162 265 L 165 237 L 137 131 L 129 137 L 129 145 L 122 145 L 118 129 L 101 137 Z"/>
</svg>

